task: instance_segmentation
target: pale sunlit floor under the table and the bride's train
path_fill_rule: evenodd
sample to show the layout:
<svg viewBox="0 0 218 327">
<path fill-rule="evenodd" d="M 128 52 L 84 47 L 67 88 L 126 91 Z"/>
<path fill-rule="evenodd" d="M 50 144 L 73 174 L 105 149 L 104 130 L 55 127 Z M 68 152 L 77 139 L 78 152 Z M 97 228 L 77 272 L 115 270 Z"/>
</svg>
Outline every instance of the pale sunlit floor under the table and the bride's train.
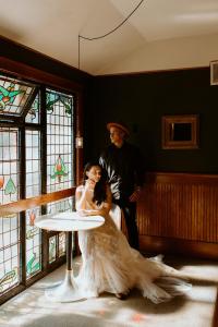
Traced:
<svg viewBox="0 0 218 327">
<path fill-rule="evenodd" d="M 195 276 L 189 294 L 158 305 L 142 298 L 137 290 L 126 301 L 105 293 L 81 302 L 49 302 L 45 288 L 63 279 L 62 266 L 4 303 L 0 308 L 0 327 L 217 327 L 218 263 L 184 257 L 166 257 L 165 263 Z M 75 270 L 80 265 L 76 258 Z"/>
</svg>

